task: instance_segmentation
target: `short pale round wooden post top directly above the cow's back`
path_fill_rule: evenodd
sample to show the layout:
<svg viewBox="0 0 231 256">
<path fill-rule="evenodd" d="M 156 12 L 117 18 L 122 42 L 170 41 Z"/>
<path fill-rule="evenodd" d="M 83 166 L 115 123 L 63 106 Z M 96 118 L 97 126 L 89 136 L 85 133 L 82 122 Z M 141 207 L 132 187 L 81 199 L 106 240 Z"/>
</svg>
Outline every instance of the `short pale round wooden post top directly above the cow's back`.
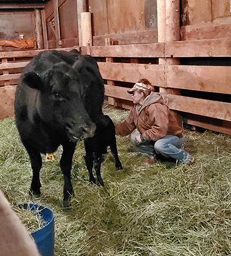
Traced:
<svg viewBox="0 0 231 256">
<path fill-rule="evenodd" d="M 91 12 L 81 13 L 82 45 L 92 45 Z"/>
</svg>

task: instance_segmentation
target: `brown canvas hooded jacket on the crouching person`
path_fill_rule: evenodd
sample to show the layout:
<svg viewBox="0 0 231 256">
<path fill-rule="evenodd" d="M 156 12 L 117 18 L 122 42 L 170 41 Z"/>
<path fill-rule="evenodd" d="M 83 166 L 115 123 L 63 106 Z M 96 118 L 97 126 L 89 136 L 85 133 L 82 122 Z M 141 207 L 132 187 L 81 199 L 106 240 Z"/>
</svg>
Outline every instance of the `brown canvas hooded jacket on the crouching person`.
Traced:
<svg viewBox="0 0 231 256">
<path fill-rule="evenodd" d="M 145 140 L 158 140 L 166 135 L 182 133 L 182 122 L 174 111 L 171 111 L 159 93 L 148 95 L 143 106 L 135 105 L 128 118 L 116 124 L 116 134 L 125 136 L 133 130 L 139 130 Z"/>
</svg>

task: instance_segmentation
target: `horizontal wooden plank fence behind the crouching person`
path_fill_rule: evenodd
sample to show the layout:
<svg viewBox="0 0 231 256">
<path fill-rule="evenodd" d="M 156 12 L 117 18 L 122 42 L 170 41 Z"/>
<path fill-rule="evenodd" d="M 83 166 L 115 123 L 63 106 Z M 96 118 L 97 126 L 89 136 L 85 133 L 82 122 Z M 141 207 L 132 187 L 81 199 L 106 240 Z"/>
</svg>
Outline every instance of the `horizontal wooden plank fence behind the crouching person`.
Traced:
<svg viewBox="0 0 231 256">
<path fill-rule="evenodd" d="M 110 103 L 113 98 L 115 106 L 130 109 L 131 95 L 126 91 L 137 79 L 147 78 L 153 85 L 167 89 L 167 92 L 171 92 L 169 89 L 180 90 L 181 95 L 168 93 L 164 97 L 171 109 L 182 114 L 185 123 L 231 134 L 230 66 L 168 66 L 153 61 L 156 58 L 197 56 L 212 58 L 213 64 L 216 57 L 231 57 L 230 46 L 230 38 L 91 46 L 91 55 L 95 58 L 111 58 L 114 61 L 107 62 L 103 59 L 98 62 L 103 79 L 115 84 L 105 85 L 105 95 L 108 96 L 106 102 Z M 200 93 L 204 95 L 200 96 Z"/>
</svg>

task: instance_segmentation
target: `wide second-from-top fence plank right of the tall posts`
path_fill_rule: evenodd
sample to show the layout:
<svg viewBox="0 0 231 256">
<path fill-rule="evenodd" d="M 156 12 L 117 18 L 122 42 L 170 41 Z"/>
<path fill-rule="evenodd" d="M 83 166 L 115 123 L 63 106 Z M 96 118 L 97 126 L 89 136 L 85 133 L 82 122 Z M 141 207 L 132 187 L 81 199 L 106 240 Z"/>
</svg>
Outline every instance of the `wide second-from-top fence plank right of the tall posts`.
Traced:
<svg viewBox="0 0 231 256">
<path fill-rule="evenodd" d="M 231 94 L 231 67 L 167 66 L 168 88 Z"/>
</svg>

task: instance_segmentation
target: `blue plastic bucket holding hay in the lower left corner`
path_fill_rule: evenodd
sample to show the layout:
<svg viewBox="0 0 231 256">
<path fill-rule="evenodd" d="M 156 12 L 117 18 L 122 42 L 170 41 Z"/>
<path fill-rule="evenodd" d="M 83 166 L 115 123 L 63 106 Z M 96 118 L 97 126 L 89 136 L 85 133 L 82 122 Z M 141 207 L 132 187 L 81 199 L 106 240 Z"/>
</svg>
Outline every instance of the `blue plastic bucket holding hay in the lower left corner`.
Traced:
<svg viewBox="0 0 231 256">
<path fill-rule="evenodd" d="M 34 239 L 34 242 L 36 242 L 39 253 L 42 256 L 54 256 L 55 224 L 52 211 L 41 205 L 25 203 L 22 207 L 38 212 L 39 216 L 46 221 L 46 225 L 38 231 L 31 233 L 31 236 Z"/>
</svg>

